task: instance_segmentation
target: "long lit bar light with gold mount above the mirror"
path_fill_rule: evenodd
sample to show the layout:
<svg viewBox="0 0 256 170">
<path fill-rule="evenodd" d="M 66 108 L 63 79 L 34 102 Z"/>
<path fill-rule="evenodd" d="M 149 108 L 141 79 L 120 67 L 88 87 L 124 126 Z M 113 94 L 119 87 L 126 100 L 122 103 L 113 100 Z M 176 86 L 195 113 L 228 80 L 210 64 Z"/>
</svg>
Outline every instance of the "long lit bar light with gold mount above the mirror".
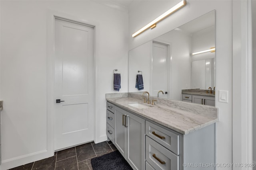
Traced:
<svg viewBox="0 0 256 170">
<path fill-rule="evenodd" d="M 144 27 L 142 27 L 140 30 L 138 30 L 136 33 L 132 34 L 132 37 L 136 37 L 137 35 L 139 35 L 140 33 L 142 33 L 143 31 L 145 31 L 146 29 L 148 29 L 149 27 L 151 29 L 153 29 L 154 27 L 156 27 L 156 23 L 158 23 L 159 21 L 163 20 L 164 18 L 168 17 L 170 14 L 174 13 L 175 11 L 179 10 L 180 8 L 182 8 L 183 6 L 186 5 L 186 0 L 182 0 L 181 2 L 179 2 L 178 4 L 176 4 L 174 7 L 172 7 L 170 10 L 164 12 L 164 14 L 160 15 L 158 18 L 154 19 L 153 21 L 151 21 L 150 23 L 148 23 L 147 25 L 145 25 Z"/>
</svg>

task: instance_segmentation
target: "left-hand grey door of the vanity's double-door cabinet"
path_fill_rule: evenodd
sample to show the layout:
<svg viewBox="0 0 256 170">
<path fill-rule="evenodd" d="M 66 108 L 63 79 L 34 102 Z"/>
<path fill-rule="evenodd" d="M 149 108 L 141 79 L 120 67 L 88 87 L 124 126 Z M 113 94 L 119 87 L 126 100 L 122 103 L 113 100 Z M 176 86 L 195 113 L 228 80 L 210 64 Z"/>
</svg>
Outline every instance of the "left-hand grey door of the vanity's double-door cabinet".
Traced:
<svg viewBox="0 0 256 170">
<path fill-rule="evenodd" d="M 123 126 L 124 123 L 124 116 L 126 115 L 126 111 L 123 109 L 120 109 L 119 107 L 115 107 L 115 137 L 114 137 L 114 145 L 119 150 L 119 152 L 122 154 L 122 156 L 125 157 L 125 149 L 126 149 L 126 128 Z"/>
</svg>

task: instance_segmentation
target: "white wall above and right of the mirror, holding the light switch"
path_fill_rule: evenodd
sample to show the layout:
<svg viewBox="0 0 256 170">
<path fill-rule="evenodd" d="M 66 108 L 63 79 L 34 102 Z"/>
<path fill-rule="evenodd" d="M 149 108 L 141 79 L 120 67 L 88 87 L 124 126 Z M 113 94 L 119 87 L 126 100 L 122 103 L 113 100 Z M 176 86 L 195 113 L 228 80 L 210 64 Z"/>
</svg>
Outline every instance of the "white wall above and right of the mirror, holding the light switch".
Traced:
<svg viewBox="0 0 256 170">
<path fill-rule="evenodd" d="M 189 0 L 184 8 L 162 20 L 156 28 L 148 29 L 135 38 L 131 36 L 178 2 L 179 0 L 137 3 L 136 9 L 129 13 L 129 49 L 216 10 L 216 99 L 218 90 L 229 91 L 228 103 L 221 103 L 218 100 L 215 102 L 216 107 L 220 108 L 220 121 L 216 123 L 216 162 L 232 163 L 232 1 Z"/>
</svg>

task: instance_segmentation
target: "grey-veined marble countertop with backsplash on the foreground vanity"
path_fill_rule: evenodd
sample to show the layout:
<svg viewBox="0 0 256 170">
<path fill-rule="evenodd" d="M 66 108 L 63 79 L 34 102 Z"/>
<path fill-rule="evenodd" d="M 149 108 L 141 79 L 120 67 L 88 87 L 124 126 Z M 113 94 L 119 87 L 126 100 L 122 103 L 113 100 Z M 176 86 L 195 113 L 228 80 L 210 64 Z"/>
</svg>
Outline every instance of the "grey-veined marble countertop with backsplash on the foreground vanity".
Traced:
<svg viewBox="0 0 256 170">
<path fill-rule="evenodd" d="M 186 102 L 157 99 L 158 102 L 156 102 L 155 105 L 152 105 L 144 103 L 142 99 L 129 96 L 106 98 L 108 102 L 116 106 L 136 113 L 184 135 L 198 129 L 202 129 L 203 127 L 218 121 L 218 108 L 216 107 L 200 106 L 196 104 L 191 105 Z M 148 107 L 138 109 L 128 105 L 133 102 L 137 102 Z M 189 107 L 188 109 L 184 107 L 186 105 Z"/>
</svg>

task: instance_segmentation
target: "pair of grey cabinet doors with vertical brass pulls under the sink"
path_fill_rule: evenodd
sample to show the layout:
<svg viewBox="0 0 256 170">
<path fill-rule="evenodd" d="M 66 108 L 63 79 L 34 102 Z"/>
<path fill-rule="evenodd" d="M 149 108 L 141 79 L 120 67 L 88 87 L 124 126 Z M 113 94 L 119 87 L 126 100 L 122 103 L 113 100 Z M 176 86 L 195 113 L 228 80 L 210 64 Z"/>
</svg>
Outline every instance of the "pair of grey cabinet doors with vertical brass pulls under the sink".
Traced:
<svg viewBox="0 0 256 170">
<path fill-rule="evenodd" d="M 145 170 L 145 120 L 114 107 L 114 145 L 134 170 Z"/>
</svg>

